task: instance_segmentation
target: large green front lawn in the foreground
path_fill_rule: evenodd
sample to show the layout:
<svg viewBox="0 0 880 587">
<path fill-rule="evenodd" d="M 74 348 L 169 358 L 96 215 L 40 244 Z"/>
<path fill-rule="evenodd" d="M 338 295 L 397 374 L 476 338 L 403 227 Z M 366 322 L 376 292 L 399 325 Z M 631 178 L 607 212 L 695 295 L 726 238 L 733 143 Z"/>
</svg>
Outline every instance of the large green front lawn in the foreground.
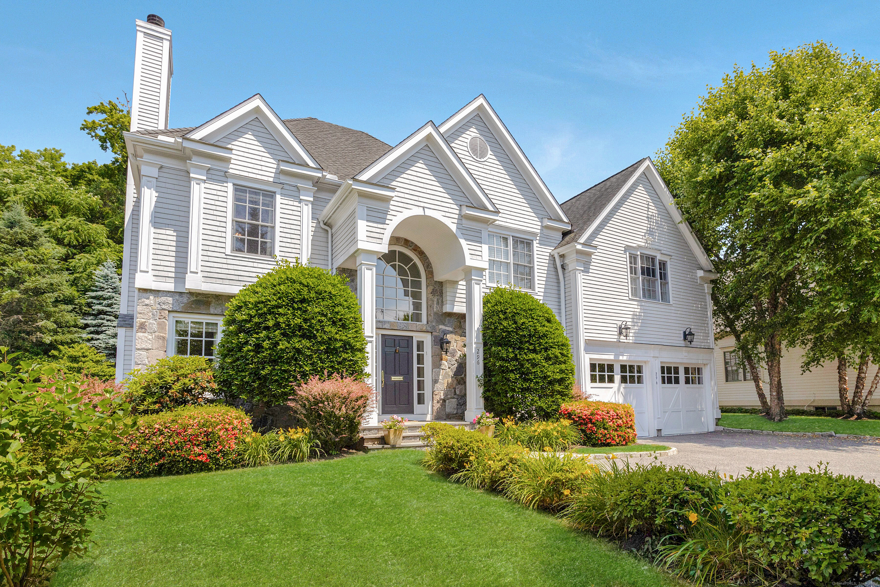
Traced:
<svg viewBox="0 0 880 587">
<path fill-rule="evenodd" d="M 52 585 L 679 584 L 554 517 L 429 473 L 421 457 L 109 482 L 99 546 Z"/>
</svg>

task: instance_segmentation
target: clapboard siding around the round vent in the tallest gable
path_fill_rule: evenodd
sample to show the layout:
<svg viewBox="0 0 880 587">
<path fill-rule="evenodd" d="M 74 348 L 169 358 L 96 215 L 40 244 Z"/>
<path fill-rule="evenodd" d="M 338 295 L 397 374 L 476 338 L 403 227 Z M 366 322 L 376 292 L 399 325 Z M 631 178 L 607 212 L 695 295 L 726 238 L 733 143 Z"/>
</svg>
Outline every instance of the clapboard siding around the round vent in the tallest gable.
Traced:
<svg viewBox="0 0 880 587">
<path fill-rule="evenodd" d="M 471 157 L 467 149 L 467 142 L 476 135 L 481 136 L 488 144 L 489 156 L 486 161 L 477 161 Z M 446 139 L 501 212 L 499 222 L 528 231 L 540 230 L 541 218 L 548 216 L 544 205 L 532 191 L 532 187 L 529 187 L 508 153 L 502 149 L 501 143 L 498 143 L 480 114 L 474 114 L 473 118 L 458 127 Z"/>
</svg>

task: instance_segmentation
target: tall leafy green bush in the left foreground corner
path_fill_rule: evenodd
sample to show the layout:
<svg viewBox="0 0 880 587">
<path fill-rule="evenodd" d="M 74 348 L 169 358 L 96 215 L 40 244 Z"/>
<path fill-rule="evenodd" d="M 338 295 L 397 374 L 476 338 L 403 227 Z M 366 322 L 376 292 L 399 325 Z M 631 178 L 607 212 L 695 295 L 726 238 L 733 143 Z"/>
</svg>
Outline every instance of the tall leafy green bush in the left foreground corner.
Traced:
<svg viewBox="0 0 880 587">
<path fill-rule="evenodd" d="M 63 559 L 87 551 L 88 523 L 107 508 L 99 482 L 131 423 L 121 400 L 93 406 L 76 378 L 46 365 L 15 369 L 6 351 L 0 348 L 0 562 L 4 584 L 43 585 Z"/>
</svg>

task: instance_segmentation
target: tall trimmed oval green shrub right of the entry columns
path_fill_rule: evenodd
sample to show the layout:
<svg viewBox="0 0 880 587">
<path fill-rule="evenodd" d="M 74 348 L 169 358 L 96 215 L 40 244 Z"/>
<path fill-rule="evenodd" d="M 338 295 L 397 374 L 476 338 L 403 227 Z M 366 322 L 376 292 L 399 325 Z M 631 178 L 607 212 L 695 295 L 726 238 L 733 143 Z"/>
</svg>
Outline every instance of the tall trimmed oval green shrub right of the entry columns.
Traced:
<svg viewBox="0 0 880 587">
<path fill-rule="evenodd" d="M 546 420 L 571 400 L 575 363 L 553 311 L 524 291 L 483 297 L 483 400 L 496 416 Z"/>
</svg>

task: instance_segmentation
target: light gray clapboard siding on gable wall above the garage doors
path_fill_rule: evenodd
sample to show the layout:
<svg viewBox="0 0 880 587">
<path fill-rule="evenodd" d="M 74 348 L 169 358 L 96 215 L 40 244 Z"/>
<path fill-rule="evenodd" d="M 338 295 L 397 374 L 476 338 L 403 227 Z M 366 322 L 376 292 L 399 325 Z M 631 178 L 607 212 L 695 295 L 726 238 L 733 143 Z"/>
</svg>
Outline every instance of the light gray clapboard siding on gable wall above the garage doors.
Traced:
<svg viewBox="0 0 880 587">
<path fill-rule="evenodd" d="M 630 341 L 682 346 L 693 328 L 693 347 L 709 346 L 706 290 L 697 282 L 700 264 L 665 204 L 642 174 L 588 238 L 598 247 L 583 277 L 583 316 L 588 339 L 617 340 L 617 325 L 632 327 Z M 670 255 L 671 304 L 629 297 L 627 246 L 650 246 Z"/>
</svg>

